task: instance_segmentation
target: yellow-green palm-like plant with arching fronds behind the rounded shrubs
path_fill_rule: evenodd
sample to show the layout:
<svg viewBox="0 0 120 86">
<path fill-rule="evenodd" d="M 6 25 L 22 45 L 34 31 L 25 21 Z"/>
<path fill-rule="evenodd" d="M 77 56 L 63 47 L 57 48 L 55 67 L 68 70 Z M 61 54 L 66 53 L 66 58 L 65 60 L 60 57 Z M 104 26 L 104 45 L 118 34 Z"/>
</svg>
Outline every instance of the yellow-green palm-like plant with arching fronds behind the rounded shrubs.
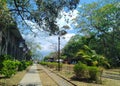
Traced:
<svg viewBox="0 0 120 86">
<path fill-rule="evenodd" d="M 83 49 L 76 53 L 76 58 L 88 66 L 103 66 L 107 68 L 110 67 L 108 60 L 104 56 L 98 55 L 87 45 L 84 45 Z"/>
</svg>

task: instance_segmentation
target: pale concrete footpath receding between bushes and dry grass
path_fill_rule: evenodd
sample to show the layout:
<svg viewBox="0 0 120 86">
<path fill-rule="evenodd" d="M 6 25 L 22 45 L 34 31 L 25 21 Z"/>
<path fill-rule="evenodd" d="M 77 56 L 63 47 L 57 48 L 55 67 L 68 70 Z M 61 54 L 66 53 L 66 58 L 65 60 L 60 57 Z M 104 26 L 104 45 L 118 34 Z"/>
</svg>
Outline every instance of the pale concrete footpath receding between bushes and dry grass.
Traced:
<svg viewBox="0 0 120 86">
<path fill-rule="evenodd" d="M 33 64 L 18 86 L 42 86 L 36 64 Z"/>
</svg>

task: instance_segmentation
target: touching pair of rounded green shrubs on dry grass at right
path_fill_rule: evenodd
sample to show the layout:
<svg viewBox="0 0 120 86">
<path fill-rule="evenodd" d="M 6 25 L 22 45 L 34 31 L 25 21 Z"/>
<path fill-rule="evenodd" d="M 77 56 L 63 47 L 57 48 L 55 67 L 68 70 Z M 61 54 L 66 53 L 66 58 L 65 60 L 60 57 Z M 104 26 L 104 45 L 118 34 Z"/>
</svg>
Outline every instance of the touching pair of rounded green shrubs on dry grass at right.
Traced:
<svg viewBox="0 0 120 86">
<path fill-rule="evenodd" d="M 87 79 L 89 81 L 96 81 L 96 83 L 100 83 L 101 72 L 100 68 L 95 66 L 87 66 L 81 62 L 78 62 L 74 66 L 74 72 L 78 79 Z"/>
</svg>

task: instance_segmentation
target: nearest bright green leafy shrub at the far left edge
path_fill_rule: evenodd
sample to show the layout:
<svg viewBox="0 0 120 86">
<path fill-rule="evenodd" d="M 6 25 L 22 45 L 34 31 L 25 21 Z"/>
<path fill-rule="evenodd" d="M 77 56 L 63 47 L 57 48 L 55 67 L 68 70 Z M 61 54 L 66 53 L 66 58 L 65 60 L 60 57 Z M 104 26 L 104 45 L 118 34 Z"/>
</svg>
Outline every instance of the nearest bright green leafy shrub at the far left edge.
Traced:
<svg viewBox="0 0 120 86">
<path fill-rule="evenodd" d="M 13 74 L 16 73 L 16 63 L 12 60 L 5 60 L 3 62 L 3 68 L 1 73 L 5 75 L 5 77 L 11 77 Z"/>
</svg>

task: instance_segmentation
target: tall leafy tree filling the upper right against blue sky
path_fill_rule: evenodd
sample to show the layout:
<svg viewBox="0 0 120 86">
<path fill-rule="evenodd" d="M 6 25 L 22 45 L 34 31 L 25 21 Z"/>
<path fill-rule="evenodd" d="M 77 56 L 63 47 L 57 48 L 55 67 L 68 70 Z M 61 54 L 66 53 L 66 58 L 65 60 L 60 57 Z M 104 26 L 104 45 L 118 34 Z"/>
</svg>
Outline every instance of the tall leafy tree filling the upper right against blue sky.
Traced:
<svg viewBox="0 0 120 86">
<path fill-rule="evenodd" d="M 107 1 L 85 4 L 75 21 L 81 32 L 90 38 L 93 36 L 89 40 L 90 47 L 119 64 L 120 6 L 117 0 Z"/>
</svg>

